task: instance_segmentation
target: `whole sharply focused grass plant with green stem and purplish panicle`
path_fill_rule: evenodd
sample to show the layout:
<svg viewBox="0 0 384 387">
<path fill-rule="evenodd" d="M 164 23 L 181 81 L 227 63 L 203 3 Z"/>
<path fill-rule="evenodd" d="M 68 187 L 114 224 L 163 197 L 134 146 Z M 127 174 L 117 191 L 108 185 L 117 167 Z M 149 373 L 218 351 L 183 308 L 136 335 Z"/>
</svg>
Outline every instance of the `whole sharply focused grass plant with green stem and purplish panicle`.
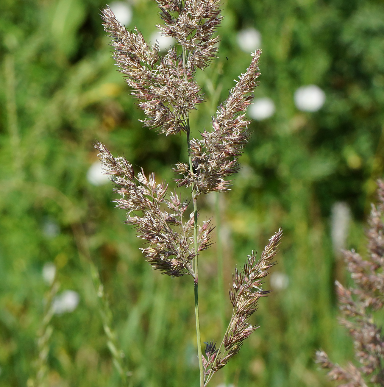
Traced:
<svg viewBox="0 0 384 387">
<path fill-rule="evenodd" d="M 213 374 L 238 353 L 242 342 L 257 327 L 249 317 L 257 301 L 268 293 L 262 289 L 262 279 L 273 265 L 281 231 L 270 240 L 257 261 L 254 253 L 235 271 L 230 300 L 233 313 L 223 341 L 216 349 L 207 344 L 205 356 L 201 350 L 198 289 L 199 252 L 210 244 L 210 220 L 198 224 L 197 198 L 209 192 L 226 191 L 228 176 L 238 171 L 238 157 L 247 143 L 249 121 L 245 110 L 259 77 L 261 50 L 252 54 L 247 71 L 240 75 L 229 97 L 212 118 L 212 129 L 203 131 L 201 139 L 190 138 L 189 111 L 202 103 L 202 93 L 194 79 L 197 68 L 204 68 L 216 55 L 215 28 L 221 21 L 218 0 L 156 0 L 164 24 L 162 33 L 176 39 L 177 45 L 161 56 L 158 46 L 150 46 L 135 28 L 127 31 L 109 7 L 102 11 L 103 26 L 111 37 L 114 58 L 120 72 L 139 100 L 146 116 L 147 127 L 158 128 L 165 135 L 184 132 L 187 137 L 188 163 L 178 163 L 173 170 L 181 175 L 179 187 L 191 187 L 193 212 L 185 214 L 188 205 L 176 194 L 167 194 L 167 184 L 157 183 L 153 173 L 135 175 L 123 157 L 113 157 L 106 147 L 95 144 L 120 195 L 117 207 L 127 211 L 127 223 L 137 227 L 138 236 L 146 242 L 142 252 L 147 261 L 164 274 L 194 279 L 197 352 L 200 386 L 206 386 Z"/>
</svg>

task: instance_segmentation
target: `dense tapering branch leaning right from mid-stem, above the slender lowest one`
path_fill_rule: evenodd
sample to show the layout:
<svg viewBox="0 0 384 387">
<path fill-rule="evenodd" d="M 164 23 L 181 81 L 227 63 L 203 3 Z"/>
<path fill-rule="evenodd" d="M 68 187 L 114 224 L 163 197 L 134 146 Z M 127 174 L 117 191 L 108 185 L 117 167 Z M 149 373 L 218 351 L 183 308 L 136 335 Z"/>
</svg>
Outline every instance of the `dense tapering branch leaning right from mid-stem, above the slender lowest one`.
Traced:
<svg viewBox="0 0 384 387">
<path fill-rule="evenodd" d="M 213 129 L 201 133 L 201 140 L 191 140 L 193 173 L 186 163 L 176 164 L 174 171 L 183 176 L 176 180 L 179 186 L 194 185 L 198 194 L 230 189 L 226 178 L 239 170 L 238 157 L 249 137 L 250 121 L 244 112 L 258 84 L 260 54 L 261 50 L 252 54 L 247 71 L 240 75 L 229 97 L 219 106 L 216 117 L 212 117 Z"/>
</svg>

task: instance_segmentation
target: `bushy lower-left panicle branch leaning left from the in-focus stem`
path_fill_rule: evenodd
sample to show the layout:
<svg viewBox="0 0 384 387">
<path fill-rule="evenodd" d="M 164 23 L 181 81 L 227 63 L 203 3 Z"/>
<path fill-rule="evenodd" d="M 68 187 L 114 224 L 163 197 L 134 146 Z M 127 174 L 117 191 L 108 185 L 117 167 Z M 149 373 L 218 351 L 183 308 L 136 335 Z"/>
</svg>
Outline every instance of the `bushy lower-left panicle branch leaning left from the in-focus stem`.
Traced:
<svg viewBox="0 0 384 387">
<path fill-rule="evenodd" d="M 127 210 L 126 222 L 137 226 L 139 238 L 149 245 L 141 249 L 148 262 L 154 269 L 170 276 L 194 276 L 191 265 L 196 254 L 192 243 L 193 214 L 183 222 L 187 204 L 177 195 L 171 194 L 167 199 L 167 185 L 156 183 L 153 173 L 148 178 L 143 171 L 135 176 L 132 165 L 125 158 L 114 158 L 100 142 L 94 147 L 100 152 L 99 157 L 105 173 L 111 176 L 115 192 L 121 195 L 115 200 L 117 207 Z M 162 207 L 170 211 L 163 211 Z M 199 227 L 199 251 L 209 247 L 211 231 L 209 220 Z"/>
</svg>

